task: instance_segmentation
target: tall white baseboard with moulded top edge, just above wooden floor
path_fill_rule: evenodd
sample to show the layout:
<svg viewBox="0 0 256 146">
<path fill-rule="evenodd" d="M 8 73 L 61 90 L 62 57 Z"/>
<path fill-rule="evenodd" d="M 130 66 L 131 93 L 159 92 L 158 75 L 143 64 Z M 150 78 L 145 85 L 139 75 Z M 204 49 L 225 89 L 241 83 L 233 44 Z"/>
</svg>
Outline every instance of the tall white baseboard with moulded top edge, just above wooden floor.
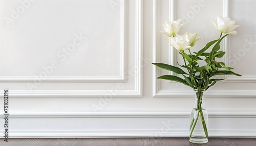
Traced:
<svg viewBox="0 0 256 146">
<path fill-rule="evenodd" d="M 188 137 L 189 113 L 189 111 L 10 111 L 8 136 L 10 138 Z M 208 111 L 208 115 L 209 137 L 256 137 L 255 111 Z M 4 127 L 3 123 L 2 116 L 0 127 Z M 0 136 L 3 137 L 2 131 Z"/>
</svg>

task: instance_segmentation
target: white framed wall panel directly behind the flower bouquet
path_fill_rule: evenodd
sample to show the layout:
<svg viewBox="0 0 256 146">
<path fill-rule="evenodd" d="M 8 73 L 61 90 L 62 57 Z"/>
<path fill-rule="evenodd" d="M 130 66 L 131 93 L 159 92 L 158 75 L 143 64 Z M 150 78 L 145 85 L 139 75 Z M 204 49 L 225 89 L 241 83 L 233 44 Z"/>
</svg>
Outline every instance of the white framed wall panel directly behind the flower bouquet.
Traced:
<svg viewBox="0 0 256 146">
<path fill-rule="evenodd" d="M 224 40 L 221 44 L 221 50 L 226 51 L 226 56 L 223 58 L 223 61 L 227 65 L 234 67 L 235 72 L 243 75 L 243 77 L 233 77 L 233 76 L 218 76 L 216 78 L 222 79 L 227 78 L 225 81 L 219 81 L 215 86 L 207 90 L 207 97 L 214 97 L 217 94 L 221 94 L 223 97 L 233 97 L 233 92 L 238 91 L 242 97 L 255 97 L 256 91 L 255 85 L 251 85 L 249 82 L 254 82 L 254 73 L 255 69 L 253 67 L 253 54 L 247 53 L 249 55 L 247 59 L 241 59 L 237 61 L 235 66 L 230 63 L 233 61 L 233 58 L 230 58 L 230 55 L 238 52 L 243 53 L 244 50 L 241 50 L 241 46 L 249 44 L 241 43 L 241 41 L 246 41 L 250 43 L 250 46 L 253 45 L 253 31 L 248 30 L 247 26 L 253 24 L 253 17 L 248 14 L 246 15 L 247 19 L 244 18 L 244 13 L 241 14 L 240 11 L 244 9 L 251 10 L 253 3 L 244 2 L 244 1 L 176 1 L 176 0 L 165 0 L 165 1 L 154 1 L 155 2 L 155 11 L 154 11 L 154 37 L 155 43 L 153 44 L 153 62 L 162 62 L 166 64 L 172 64 L 178 66 L 177 62 L 183 63 L 182 56 L 176 51 L 174 47 L 170 47 L 168 43 L 170 40 L 164 34 L 160 34 L 160 31 L 164 31 L 162 25 L 164 21 L 177 20 L 181 19 L 181 22 L 184 23 L 184 27 L 181 28 L 180 35 L 185 32 L 188 33 L 197 33 L 198 37 L 201 39 L 196 43 L 194 47 L 190 50 L 191 52 L 197 52 L 203 48 L 207 42 L 216 40 L 219 38 L 220 32 L 215 28 L 212 20 L 217 20 L 217 16 L 229 16 L 232 20 L 236 20 L 240 27 L 237 29 L 237 35 L 229 35 L 228 39 Z M 243 3 L 243 9 L 240 8 L 240 4 Z M 248 6 L 248 4 L 252 4 Z M 250 8 L 248 8 L 250 7 Z M 217 11 L 218 10 L 218 11 Z M 239 17 L 240 16 L 240 17 Z M 246 28 L 246 29 L 245 29 Z M 251 29 L 253 30 L 253 28 Z M 250 34 L 248 34 L 250 33 Z M 241 34 L 241 35 L 240 35 Z M 243 34 L 243 35 L 242 35 Z M 249 36 L 250 38 L 245 38 Z M 233 52 L 235 51 L 235 52 Z M 230 60 L 228 60 L 228 58 Z M 246 57 L 245 57 L 246 58 Z M 232 59 L 232 60 L 231 60 Z M 250 68 L 249 70 L 245 68 Z M 246 72 L 243 74 L 243 72 Z M 160 69 L 153 66 L 153 95 L 155 97 L 187 97 L 188 95 L 193 96 L 193 90 L 183 84 L 177 82 L 168 82 L 167 80 L 156 79 L 161 75 L 174 75 L 173 72 L 168 72 L 166 70 Z M 232 82 L 229 82 L 232 81 Z M 236 81 L 236 83 L 234 82 Z M 239 82 L 237 82 L 239 81 Z M 243 86 L 240 84 L 244 83 Z M 247 84 L 246 84 L 247 83 Z M 227 85 L 228 84 L 228 85 Z M 250 93 L 250 95 L 248 94 Z"/>
</svg>

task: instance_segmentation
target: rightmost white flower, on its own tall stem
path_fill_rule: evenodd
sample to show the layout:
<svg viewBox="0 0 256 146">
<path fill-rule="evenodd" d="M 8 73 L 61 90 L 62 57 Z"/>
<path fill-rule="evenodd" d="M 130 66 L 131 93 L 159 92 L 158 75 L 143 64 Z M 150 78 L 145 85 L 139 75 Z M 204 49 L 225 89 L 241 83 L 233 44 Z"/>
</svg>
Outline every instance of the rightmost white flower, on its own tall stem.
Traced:
<svg viewBox="0 0 256 146">
<path fill-rule="evenodd" d="M 236 21 L 232 21 L 230 18 L 228 17 L 220 17 L 218 16 L 218 21 L 213 21 L 215 27 L 217 28 L 218 31 L 220 31 L 223 34 L 231 34 L 231 35 L 235 35 L 237 34 L 237 31 L 234 31 L 234 29 L 236 29 L 237 27 L 239 27 L 239 25 L 234 25 L 234 23 L 236 23 Z"/>
</svg>

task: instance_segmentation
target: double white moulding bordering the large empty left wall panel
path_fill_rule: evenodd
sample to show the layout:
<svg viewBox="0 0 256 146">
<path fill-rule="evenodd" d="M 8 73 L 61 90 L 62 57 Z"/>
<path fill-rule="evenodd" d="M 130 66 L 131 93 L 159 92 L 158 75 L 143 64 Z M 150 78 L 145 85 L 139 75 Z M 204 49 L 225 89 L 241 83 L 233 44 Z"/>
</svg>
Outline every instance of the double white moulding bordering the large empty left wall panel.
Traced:
<svg viewBox="0 0 256 146">
<path fill-rule="evenodd" d="M 142 83 L 143 83 L 143 70 L 142 70 L 142 40 L 143 40 L 143 0 L 136 0 L 135 1 L 135 28 L 134 28 L 134 46 L 135 46 L 135 57 L 132 57 L 132 59 L 135 59 L 135 64 L 133 67 L 127 67 L 127 37 L 128 37 L 128 31 L 127 31 L 127 21 L 128 21 L 128 1 L 124 1 L 124 3 L 120 3 L 121 5 L 121 14 L 123 19 L 121 19 L 121 31 L 122 31 L 122 38 L 121 38 L 121 48 L 122 51 L 120 55 L 122 56 L 122 77 L 48 77 L 46 79 L 39 80 L 42 83 L 49 82 L 49 83 L 58 83 L 58 82 L 93 82 L 93 83 L 100 83 L 100 82 L 108 82 L 108 83 L 127 83 L 128 78 L 127 76 L 130 76 L 130 72 L 133 72 L 132 78 L 134 78 L 134 85 L 133 89 L 120 89 L 115 91 L 106 90 L 12 90 L 10 88 L 10 96 L 11 98 L 84 98 L 84 97 L 98 97 L 98 96 L 118 96 L 118 97 L 141 97 L 142 96 Z M 133 28 L 133 27 L 131 27 Z M 131 31 L 131 30 L 130 30 Z M 129 61 L 128 61 L 129 62 Z M 11 77 L 1 77 L 0 82 L 2 83 L 28 83 L 33 82 L 37 83 L 37 78 L 24 78 L 24 77 L 17 77 L 17 78 L 11 78 Z M 120 83 L 121 82 L 121 83 Z M 128 84 L 128 83 L 127 83 Z M 26 86 L 26 85 L 25 85 Z M 2 91 L 0 91 L 2 92 Z M 113 93 L 114 92 L 114 93 Z"/>
</svg>

